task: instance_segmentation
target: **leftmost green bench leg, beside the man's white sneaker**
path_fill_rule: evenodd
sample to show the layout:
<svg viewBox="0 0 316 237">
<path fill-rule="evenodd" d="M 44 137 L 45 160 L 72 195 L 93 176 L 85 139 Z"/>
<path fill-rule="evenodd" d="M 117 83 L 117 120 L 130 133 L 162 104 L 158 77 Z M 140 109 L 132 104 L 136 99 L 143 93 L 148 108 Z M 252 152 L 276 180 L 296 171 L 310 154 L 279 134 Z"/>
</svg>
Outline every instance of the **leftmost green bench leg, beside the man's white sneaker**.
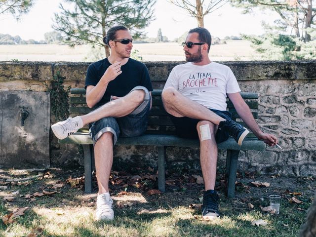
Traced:
<svg viewBox="0 0 316 237">
<path fill-rule="evenodd" d="M 84 154 L 84 193 L 92 192 L 93 145 L 82 145 Z"/>
</svg>

